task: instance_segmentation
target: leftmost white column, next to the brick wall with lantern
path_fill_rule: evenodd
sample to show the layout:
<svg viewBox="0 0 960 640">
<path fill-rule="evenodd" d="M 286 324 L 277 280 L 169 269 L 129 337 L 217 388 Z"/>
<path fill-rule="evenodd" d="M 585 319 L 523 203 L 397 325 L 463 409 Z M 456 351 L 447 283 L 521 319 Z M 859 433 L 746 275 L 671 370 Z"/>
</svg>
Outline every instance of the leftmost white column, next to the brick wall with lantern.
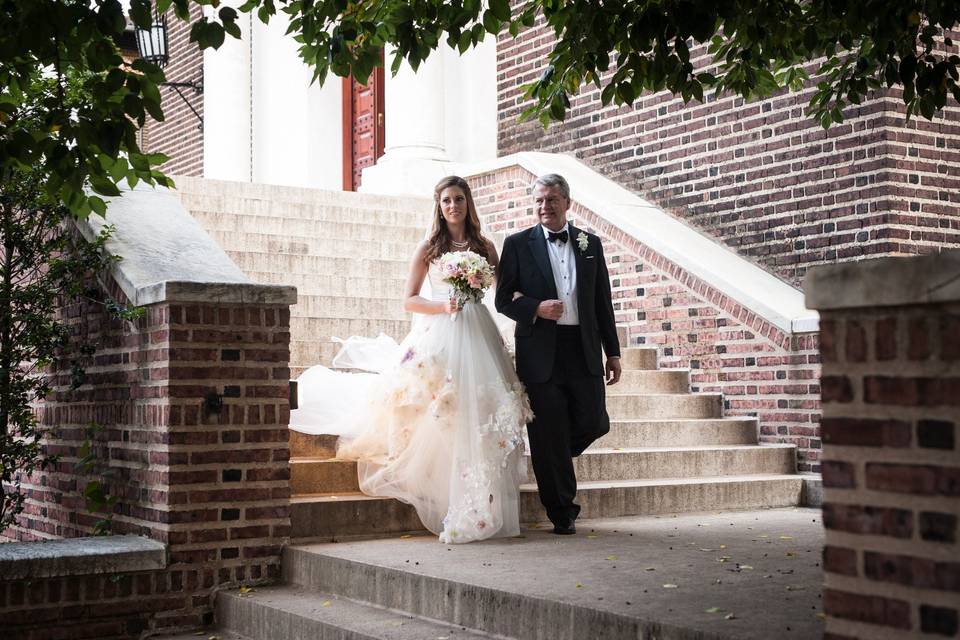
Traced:
<svg viewBox="0 0 960 640">
<path fill-rule="evenodd" d="M 233 2 L 233 4 L 238 4 Z M 203 177 L 250 180 L 250 16 L 242 37 L 203 52 Z"/>
</svg>

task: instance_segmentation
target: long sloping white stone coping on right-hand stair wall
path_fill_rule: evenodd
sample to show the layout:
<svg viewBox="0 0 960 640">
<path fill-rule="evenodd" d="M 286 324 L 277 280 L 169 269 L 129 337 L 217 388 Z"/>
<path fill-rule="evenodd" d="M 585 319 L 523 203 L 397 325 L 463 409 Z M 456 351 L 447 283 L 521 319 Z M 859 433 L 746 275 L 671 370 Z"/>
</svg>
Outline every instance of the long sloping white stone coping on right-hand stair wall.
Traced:
<svg viewBox="0 0 960 640">
<path fill-rule="evenodd" d="M 802 291 L 576 158 L 558 153 L 515 153 L 457 170 L 469 177 L 513 166 L 534 175 L 562 174 L 570 183 L 573 200 L 780 330 L 819 330 L 819 316 L 804 304 Z"/>
</svg>

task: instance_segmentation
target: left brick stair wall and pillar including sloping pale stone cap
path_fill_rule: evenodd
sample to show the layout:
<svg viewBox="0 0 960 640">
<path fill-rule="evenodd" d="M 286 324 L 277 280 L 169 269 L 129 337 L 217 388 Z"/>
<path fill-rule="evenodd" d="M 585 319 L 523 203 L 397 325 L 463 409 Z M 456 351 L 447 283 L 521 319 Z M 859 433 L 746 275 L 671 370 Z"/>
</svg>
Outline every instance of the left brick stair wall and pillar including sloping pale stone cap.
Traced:
<svg viewBox="0 0 960 640">
<path fill-rule="evenodd" d="M 0 572 L 8 638 L 61 638 L 66 629 L 71 638 L 129 638 L 209 623 L 218 588 L 280 575 L 290 535 L 295 290 L 247 279 L 164 189 L 139 185 L 109 206 L 107 248 L 123 260 L 98 295 L 132 301 L 143 315 L 119 321 L 82 299 L 61 310 L 71 340 L 96 351 L 80 361 L 77 389 L 72 363 L 47 372 L 53 392 L 36 412 L 58 460 L 23 478 L 27 508 L 4 536 L 43 547 L 91 535 L 106 514 L 91 513 L 83 492 L 99 479 L 118 499 L 112 532 L 163 545 L 164 560 L 78 572 L 54 557 L 53 570 L 38 564 L 26 581 L 22 570 L 19 579 Z M 89 239 L 105 223 L 76 224 Z M 78 463 L 91 422 L 103 427 L 92 440 L 100 468 L 85 473 Z"/>
</svg>

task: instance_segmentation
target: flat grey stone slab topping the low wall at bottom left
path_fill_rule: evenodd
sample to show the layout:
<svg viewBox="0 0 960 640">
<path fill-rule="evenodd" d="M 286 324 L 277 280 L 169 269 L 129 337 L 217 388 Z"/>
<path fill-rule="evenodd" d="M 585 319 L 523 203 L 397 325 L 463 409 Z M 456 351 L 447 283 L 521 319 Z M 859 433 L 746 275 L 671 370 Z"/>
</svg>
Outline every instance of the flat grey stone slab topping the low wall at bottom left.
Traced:
<svg viewBox="0 0 960 640">
<path fill-rule="evenodd" d="M 166 546 L 141 536 L 0 544 L 0 580 L 3 581 L 150 571 L 166 566 Z"/>
</svg>

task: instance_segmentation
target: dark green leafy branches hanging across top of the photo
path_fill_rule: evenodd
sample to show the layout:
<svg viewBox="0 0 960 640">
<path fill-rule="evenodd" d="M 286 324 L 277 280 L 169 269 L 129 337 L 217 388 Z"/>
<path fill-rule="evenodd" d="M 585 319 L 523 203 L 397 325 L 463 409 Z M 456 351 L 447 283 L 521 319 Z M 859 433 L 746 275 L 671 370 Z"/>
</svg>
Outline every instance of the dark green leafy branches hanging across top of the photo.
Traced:
<svg viewBox="0 0 960 640">
<path fill-rule="evenodd" d="M 136 25 L 151 24 L 151 6 L 130 0 Z M 926 118 L 951 97 L 960 101 L 960 58 L 949 53 L 948 33 L 960 19 L 957 0 L 246 0 L 237 9 L 156 0 L 184 20 L 192 6 L 206 8 L 191 27 L 202 48 L 240 36 L 238 10 L 263 22 L 286 13 L 319 82 L 331 72 L 365 81 L 384 46 L 394 72 L 403 60 L 416 69 L 443 44 L 464 52 L 542 21 L 556 42 L 527 87 L 526 116 L 545 125 L 563 119 L 587 83 L 605 104 L 661 90 L 684 100 L 708 90 L 749 99 L 798 89 L 811 70 L 819 84 L 810 114 L 825 127 L 884 86 L 900 87 L 908 114 Z M 125 27 L 119 0 L 0 0 L 0 172 L 39 163 L 48 194 L 75 215 L 102 212 L 99 196 L 115 195 L 120 180 L 169 183 L 155 169 L 164 158 L 144 153 L 136 136 L 147 116 L 163 119 L 163 72 L 142 60 L 124 64 L 115 43 Z M 691 59 L 698 45 L 707 58 Z M 37 69 L 56 81 L 39 106 L 27 105 Z M 62 81 L 70 72 L 92 96 L 75 106 Z"/>
</svg>

